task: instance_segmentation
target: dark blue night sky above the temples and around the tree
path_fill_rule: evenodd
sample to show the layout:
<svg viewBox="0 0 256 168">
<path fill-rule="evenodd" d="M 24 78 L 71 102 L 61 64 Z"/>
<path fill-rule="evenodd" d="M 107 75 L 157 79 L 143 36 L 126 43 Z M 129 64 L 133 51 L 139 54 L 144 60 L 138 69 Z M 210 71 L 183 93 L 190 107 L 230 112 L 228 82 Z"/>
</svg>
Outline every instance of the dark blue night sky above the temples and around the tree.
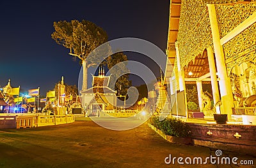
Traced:
<svg viewBox="0 0 256 168">
<path fill-rule="evenodd" d="M 1 1 L 0 86 L 10 78 L 12 87 L 40 87 L 44 97 L 61 76 L 65 83 L 77 85 L 79 60 L 73 61 L 69 50 L 51 38 L 54 21 L 90 20 L 108 33 L 109 40 L 141 38 L 165 51 L 169 4 L 167 0 Z M 141 60 L 140 55 L 127 56 Z"/>
</svg>

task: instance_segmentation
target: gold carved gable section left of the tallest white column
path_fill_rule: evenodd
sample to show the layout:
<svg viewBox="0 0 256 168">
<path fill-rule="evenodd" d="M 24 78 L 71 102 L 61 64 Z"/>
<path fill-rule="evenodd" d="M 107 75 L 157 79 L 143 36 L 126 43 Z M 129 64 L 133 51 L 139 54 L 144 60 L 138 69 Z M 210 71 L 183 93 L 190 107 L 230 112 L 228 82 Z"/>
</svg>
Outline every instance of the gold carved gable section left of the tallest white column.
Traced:
<svg viewBox="0 0 256 168">
<path fill-rule="evenodd" d="M 180 66 L 187 66 L 207 46 L 212 45 L 207 5 L 203 1 L 184 0 L 180 8 L 179 32 Z"/>
</svg>

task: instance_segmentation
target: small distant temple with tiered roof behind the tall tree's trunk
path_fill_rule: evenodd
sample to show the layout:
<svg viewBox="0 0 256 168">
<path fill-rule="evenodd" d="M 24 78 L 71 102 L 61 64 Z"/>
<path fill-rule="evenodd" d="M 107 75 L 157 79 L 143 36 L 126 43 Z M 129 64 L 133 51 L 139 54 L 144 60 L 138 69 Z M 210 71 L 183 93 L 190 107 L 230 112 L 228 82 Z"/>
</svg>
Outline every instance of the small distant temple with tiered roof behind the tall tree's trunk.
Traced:
<svg viewBox="0 0 256 168">
<path fill-rule="evenodd" d="M 99 75 L 92 77 L 92 88 L 81 91 L 82 104 L 88 115 L 99 111 L 114 111 L 116 93 L 108 87 L 110 76 L 105 76 L 104 69 L 99 67 Z"/>
</svg>

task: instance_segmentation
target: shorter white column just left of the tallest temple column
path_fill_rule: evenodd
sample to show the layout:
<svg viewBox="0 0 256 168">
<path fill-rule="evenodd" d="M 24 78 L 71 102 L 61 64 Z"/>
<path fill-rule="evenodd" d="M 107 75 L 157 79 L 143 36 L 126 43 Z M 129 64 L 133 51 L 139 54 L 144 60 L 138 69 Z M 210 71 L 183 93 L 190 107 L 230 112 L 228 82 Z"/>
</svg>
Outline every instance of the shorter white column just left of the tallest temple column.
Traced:
<svg viewBox="0 0 256 168">
<path fill-rule="evenodd" d="M 216 76 L 215 60 L 214 60 L 214 55 L 213 55 L 211 46 L 208 46 L 207 48 L 207 55 L 208 55 L 209 69 L 210 69 L 210 75 L 211 75 L 213 102 L 214 104 L 216 104 L 218 101 L 220 101 L 220 95 L 219 95 L 218 81 Z"/>
</svg>

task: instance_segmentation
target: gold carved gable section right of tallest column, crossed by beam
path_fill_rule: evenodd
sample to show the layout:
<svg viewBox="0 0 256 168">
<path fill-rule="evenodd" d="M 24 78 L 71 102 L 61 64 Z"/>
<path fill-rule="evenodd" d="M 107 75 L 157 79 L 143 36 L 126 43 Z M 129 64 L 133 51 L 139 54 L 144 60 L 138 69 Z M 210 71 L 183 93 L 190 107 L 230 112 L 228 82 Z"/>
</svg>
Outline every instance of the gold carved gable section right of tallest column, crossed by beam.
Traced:
<svg viewBox="0 0 256 168">
<path fill-rule="evenodd" d="M 256 12 L 255 3 L 216 5 L 221 38 L 237 27 L 237 25 L 241 24 L 246 18 L 250 17 L 254 12 Z M 253 60 L 256 57 L 255 36 L 256 23 L 223 45 L 228 74 L 230 74 L 232 67 L 242 62 Z"/>
</svg>

